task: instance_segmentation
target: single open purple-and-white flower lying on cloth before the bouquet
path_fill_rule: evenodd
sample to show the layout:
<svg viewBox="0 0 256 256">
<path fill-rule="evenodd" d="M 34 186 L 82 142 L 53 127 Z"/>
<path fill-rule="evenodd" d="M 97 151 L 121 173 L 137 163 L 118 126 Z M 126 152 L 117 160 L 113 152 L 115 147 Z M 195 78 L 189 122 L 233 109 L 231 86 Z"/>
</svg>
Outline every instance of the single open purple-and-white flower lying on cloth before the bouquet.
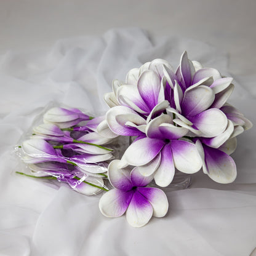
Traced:
<svg viewBox="0 0 256 256">
<path fill-rule="evenodd" d="M 119 160 L 108 166 L 108 179 L 114 187 L 100 198 L 100 211 L 106 217 L 126 213 L 127 222 L 134 227 L 146 225 L 152 216 L 164 217 L 169 204 L 159 188 L 147 187 L 153 176 L 144 177 L 138 168 L 119 168 Z"/>
</svg>

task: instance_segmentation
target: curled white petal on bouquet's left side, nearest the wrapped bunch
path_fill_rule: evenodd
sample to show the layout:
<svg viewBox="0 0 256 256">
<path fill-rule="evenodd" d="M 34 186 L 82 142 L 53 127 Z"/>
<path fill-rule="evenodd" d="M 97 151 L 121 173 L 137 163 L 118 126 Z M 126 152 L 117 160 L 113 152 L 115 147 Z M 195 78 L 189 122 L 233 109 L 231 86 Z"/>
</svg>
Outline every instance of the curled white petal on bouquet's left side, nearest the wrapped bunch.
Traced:
<svg viewBox="0 0 256 256">
<path fill-rule="evenodd" d="M 119 117 L 118 117 L 119 116 Z M 118 135 L 124 136 L 137 136 L 142 135 L 140 130 L 135 129 L 134 127 L 125 126 L 124 117 L 129 118 L 126 121 L 134 121 L 135 124 L 143 124 L 146 123 L 145 119 L 139 116 L 134 110 L 131 110 L 127 106 L 114 106 L 106 113 L 106 121 L 108 122 L 108 126 Z"/>
</svg>

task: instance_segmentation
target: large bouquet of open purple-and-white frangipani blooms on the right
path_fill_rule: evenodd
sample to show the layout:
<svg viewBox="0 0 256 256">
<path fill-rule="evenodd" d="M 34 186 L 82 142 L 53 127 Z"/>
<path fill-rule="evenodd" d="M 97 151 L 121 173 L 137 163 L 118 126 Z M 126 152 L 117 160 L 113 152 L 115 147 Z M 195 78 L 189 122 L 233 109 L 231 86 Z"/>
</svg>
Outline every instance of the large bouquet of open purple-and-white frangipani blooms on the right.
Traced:
<svg viewBox="0 0 256 256">
<path fill-rule="evenodd" d="M 236 135 L 252 124 L 226 102 L 232 80 L 191 62 L 186 52 L 176 71 L 166 60 L 145 63 L 130 70 L 126 82 L 113 81 L 98 132 L 136 137 L 119 168 L 136 166 L 159 186 L 172 182 L 175 169 L 193 174 L 201 167 L 215 182 L 233 182 L 236 164 L 229 154 Z"/>
</svg>

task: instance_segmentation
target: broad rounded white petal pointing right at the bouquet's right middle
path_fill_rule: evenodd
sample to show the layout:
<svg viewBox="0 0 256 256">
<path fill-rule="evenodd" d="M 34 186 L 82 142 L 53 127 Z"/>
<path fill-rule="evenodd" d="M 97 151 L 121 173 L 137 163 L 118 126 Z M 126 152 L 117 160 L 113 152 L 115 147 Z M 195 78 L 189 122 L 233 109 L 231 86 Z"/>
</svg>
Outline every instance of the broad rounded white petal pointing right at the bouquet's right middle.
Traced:
<svg viewBox="0 0 256 256">
<path fill-rule="evenodd" d="M 228 119 L 225 114 L 217 108 L 210 108 L 196 116 L 190 117 L 194 126 L 201 130 L 203 137 L 215 137 L 226 129 Z"/>
</svg>

